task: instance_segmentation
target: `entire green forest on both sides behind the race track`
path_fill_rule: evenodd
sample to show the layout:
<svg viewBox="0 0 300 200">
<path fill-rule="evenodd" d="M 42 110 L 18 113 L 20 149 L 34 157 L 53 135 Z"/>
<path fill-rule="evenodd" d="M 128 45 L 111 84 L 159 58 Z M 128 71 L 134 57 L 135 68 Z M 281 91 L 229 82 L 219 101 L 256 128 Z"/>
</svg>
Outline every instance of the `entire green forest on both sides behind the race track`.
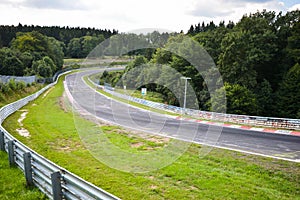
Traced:
<svg viewBox="0 0 300 200">
<path fill-rule="evenodd" d="M 118 36 L 118 37 L 116 37 Z M 134 60 L 123 72 L 105 72 L 101 82 L 113 86 L 159 92 L 171 105 L 182 105 L 183 85 L 175 85 L 168 77 L 166 66 L 190 77 L 195 91 L 197 107 L 212 109 L 212 96 L 203 75 L 186 59 L 169 52 L 165 47 L 190 37 L 200 44 L 212 57 L 221 73 L 222 90 L 226 91 L 227 113 L 300 118 L 300 11 L 286 14 L 262 11 L 247 14 L 237 22 L 191 25 L 187 33 L 159 33 L 147 35 L 118 34 L 116 30 L 92 28 L 0 26 L 0 74 L 38 75 L 51 77 L 63 66 L 64 58 L 85 58 L 105 39 L 110 38 L 102 49 L 105 55 L 129 55 Z M 148 48 L 130 50 L 137 42 Z M 183 52 L 188 54 L 192 46 L 186 44 Z M 156 68 L 150 66 L 155 65 Z M 169 82 L 139 85 L 141 80 L 151 82 L 145 73 L 128 74 L 139 66 L 149 66 L 147 73 L 160 74 Z M 161 66 L 161 67 L 159 67 Z M 155 70 L 153 70 L 155 69 Z M 127 76 L 125 76 L 127 73 Z M 215 71 L 207 72 L 211 76 Z M 128 76 L 129 75 L 129 76 Z M 123 79 L 121 77 L 123 76 Z M 131 78 L 135 81 L 129 81 Z M 180 77 L 178 77 L 180 78 Z M 192 100 L 187 96 L 187 101 Z M 223 106 L 216 105 L 216 106 Z"/>
</svg>

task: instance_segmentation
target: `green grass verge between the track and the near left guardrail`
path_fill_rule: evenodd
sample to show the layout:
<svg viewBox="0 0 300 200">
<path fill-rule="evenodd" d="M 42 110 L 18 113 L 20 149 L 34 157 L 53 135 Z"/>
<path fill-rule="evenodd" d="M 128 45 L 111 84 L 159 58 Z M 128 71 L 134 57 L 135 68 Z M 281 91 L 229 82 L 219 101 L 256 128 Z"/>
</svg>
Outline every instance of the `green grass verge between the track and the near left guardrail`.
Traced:
<svg viewBox="0 0 300 200">
<path fill-rule="evenodd" d="M 23 108 L 29 111 L 23 121 L 29 138 L 15 131 L 21 112 L 9 117 L 4 126 L 40 154 L 122 199 L 300 199 L 300 164 L 221 149 L 199 158 L 199 145 L 191 145 L 172 165 L 154 172 L 136 174 L 109 168 L 84 147 L 62 94 L 60 81 L 46 97 Z M 86 132 L 99 129 L 90 121 L 75 118 Z M 161 145 L 120 127 L 103 125 L 102 130 L 123 151 L 150 152 L 169 144 L 164 141 Z"/>
</svg>

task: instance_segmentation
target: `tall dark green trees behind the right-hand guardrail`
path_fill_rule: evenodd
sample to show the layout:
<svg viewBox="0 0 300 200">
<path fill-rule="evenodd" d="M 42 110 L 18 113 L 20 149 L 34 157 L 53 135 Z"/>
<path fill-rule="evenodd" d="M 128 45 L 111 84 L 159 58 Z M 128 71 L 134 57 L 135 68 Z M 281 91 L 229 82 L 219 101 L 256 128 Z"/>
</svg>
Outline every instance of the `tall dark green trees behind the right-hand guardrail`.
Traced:
<svg viewBox="0 0 300 200">
<path fill-rule="evenodd" d="M 203 46 L 214 60 L 221 73 L 224 86 L 210 95 L 203 75 L 193 68 L 191 63 L 164 48 L 157 48 L 151 56 L 138 56 L 130 63 L 123 74 L 104 73 L 102 81 L 113 85 L 126 85 L 131 88 L 147 87 L 164 95 L 165 102 L 182 105 L 183 84 L 176 85 L 170 79 L 167 87 L 156 84 L 141 86 L 139 81 L 151 82 L 159 73 L 168 80 L 168 65 L 183 76 L 191 77 L 191 85 L 196 93 L 201 110 L 218 110 L 212 107 L 224 106 L 218 102 L 222 92 L 226 91 L 228 113 L 300 118 L 300 11 L 290 11 L 285 15 L 272 11 L 262 11 L 244 15 L 236 24 L 213 22 L 205 25 L 192 25 L 187 33 L 193 40 Z M 183 34 L 170 36 L 166 43 L 182 41 Z M 192 46 L 185 44 L 182 51 L 188 52 Z M 153 64 L 156 67 L 152 67 Z M 133 68 L 149 65 L 149 72 L 128 74 Z M 210 76 L 216 72 L 207 71 Z M 169 73 L 170 74 L 170 73 Z M 131 77 L 130 77 L 131 76 Z M 120 78 L 123 77 L 121 80 Z M 180 77 L 178 77 L 180 78 Z M 148 80 L 147 80 L 148 79 Z M 131 80 L 131 81 L 130 81 Z M 136 80 L 136 81 L 132 81 Z M 189 101 L 189 96 L 187 101 Z"/>
</svg>

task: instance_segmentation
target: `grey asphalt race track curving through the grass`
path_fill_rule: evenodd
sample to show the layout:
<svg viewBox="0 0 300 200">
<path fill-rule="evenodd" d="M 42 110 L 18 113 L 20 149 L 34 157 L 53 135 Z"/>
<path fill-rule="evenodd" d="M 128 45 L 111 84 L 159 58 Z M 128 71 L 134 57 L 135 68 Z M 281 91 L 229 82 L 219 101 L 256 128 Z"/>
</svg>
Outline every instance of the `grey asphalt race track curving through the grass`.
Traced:
<svg viewBox="0 0 300 200">
<path fill-rule="evenodd" d="M 300 137 L 181 121 L 135 108 L 111 100 L 85 84 L 82 77 L 100 71 L 82 71 L 66 77 L 67 87 L 76 103 L 98 118 L 153 134 L 300 162 Z"/>
</svg>

